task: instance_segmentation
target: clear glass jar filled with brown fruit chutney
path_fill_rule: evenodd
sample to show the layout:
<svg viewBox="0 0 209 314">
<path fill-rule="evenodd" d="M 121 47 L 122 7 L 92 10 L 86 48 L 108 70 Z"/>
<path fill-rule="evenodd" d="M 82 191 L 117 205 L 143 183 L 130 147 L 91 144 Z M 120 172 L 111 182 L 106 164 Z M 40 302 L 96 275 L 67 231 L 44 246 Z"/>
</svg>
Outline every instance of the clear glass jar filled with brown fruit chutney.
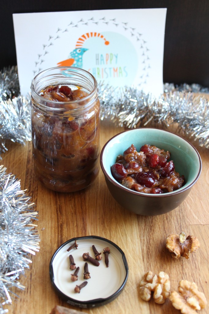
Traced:
<svg viewBox="0 0 209 314">
<path fill-rule="evenodd" d="M 62 98 L 60 90 L 66 86 L 73 100 Z M 50 96 L 51 90 L 59 90 L 57 99 Z M 100 154 L 96 79 L 73 67 L 39 73 L 31 84 L 30 115 L 34 171 L 39 180 L 58 192 L 74 192 L 91 184 L 99 172 Z"/>
</svg>

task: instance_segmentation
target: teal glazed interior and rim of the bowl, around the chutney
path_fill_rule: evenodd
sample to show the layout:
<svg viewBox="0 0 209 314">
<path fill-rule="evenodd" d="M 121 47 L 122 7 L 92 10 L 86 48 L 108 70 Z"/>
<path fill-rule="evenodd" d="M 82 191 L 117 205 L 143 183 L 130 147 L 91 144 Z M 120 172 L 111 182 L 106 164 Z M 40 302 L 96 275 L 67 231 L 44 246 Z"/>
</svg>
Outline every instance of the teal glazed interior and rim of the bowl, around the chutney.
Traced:
<svg viewBox="0 0 209 314">
<path fill-rule="evenodd" d="M 185 185 L 178 192 L 185 190 L 193 185 L 199 178 L 201 173 L 201 158 L 196 148 L 184 138 L 165 130 L 156 128 L 138 128 L 123 131 L 111 138 L 103 147 L 101 152 L 102 171 L 108 179 L 116 184 L 119 184 L 112 176 L 110 167 L 116 162 L 116 157 L 123 154 L 131 144 L 134 144 L 137 151 L 144 144 L 155 145 L 160 149 L 168 150 L 171 153 L 170 160 L 174 161 L 175 171 L 179 172 L 180 176 L 185 176 Z M 128 190 L 128 188 L 124 187 Z M 169 192 L 168 194 L 176 193 Z M 140 192 L 135 192 L 144 194 Z M 149 194 L 153 195 L 153 194 Z M 159 194 L 162 196 L 165 194 Z"/>
</svg>

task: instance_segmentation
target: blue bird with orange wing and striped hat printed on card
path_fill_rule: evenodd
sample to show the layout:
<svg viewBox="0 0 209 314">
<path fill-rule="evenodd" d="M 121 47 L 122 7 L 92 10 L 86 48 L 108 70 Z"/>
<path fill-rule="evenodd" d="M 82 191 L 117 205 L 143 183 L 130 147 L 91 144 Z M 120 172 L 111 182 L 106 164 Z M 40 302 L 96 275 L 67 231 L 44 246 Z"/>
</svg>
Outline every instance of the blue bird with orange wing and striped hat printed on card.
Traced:
<svg viewBox="0 0 209 314">
<path fill-rule="evenodd" d="M 82 35 L 78 41 L 76 42 L 76 48 L 71 51 L 69 54 L 69 59 L 66 59 L 64 61 L 61 61 L 57 63 L 59 67 L 76 67 L 76 68 L 82 68 L 83 67 L 83 54 L 86 52 L 88 49 L 83 48 L 83 43 L 91 37 L 97 37 L 101 38 L 104 40 L 105 45 L 109 45 L 109 41 L 105 39 L 105 37 L 96 32 L 90 32 Z"/>
</svg>

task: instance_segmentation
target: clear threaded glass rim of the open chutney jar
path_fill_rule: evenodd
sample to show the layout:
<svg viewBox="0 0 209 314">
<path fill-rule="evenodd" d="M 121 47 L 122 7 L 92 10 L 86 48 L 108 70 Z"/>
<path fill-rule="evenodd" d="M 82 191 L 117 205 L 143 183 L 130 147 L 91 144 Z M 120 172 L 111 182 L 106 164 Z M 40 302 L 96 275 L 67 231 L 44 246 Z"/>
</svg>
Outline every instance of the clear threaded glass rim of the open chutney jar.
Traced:
<svg viewBox="0 0 209 314">
<path fill-rule="evenodd" d="M 56 71 L 59 69 L 59 72 L 58 73 L 54 73 L 53 75 L 57 75 L 57 78 L 58 77 L 67 77 L 66 75 L 62 74 L 61 73 L 61 69 L 63 69 L 63 71 L 65 70 L 68 70 L 68 73 L 71 72 L 71 73 L 75 73 L 77 75 L 80 75 L 83 77 L 85 77 L 84 75 L 86 74 L 86 78 L 87 76 L 89 76 L 88 78 L 88 82 L 90 82 L 90 78 L 92 79 L 92 83 L 93 83 L 93 86 L 92 86 L 92 90 L 90 91 L 90 93 L 86 96 L 84 96 L 83 98 L 81 99 L 78 99 L 78 100 L 71 100 L 71 101 L 55 101 L 55 100 L 48 100 L 48 99 L 45 99 L 43 98 L 39 92 L 36 90 L 36 85 L 35 85 L 35 82 L 37 81 L 37 83 L 43 79 L 43 78 L 46 78 L 48 77 L 47 75 L 44 76 L 45 73 L 47 72 L 50 72 L 50 71 Z M 51 74 L 52 75 L 52 74 Z M 48 85 L 49 86 L 49 85 Z M 79 86 L 78 84 L 76 84 L 76 86 Z M 84 69 L 81 69 L 81 68 L 76 68 L 76 67 L 53 67 L 53 68 L 48 68 L 48 69 L 45 69 L 41 72 L 39 72 L 32 80 L 31 82 L 31 96 L 34 98 L 34 100 L 38 101 L 38 100 L 41 100 L 41 105 L 46 107 L 46 108 L 50 108 L 49 106 L 45 105 L 44 103 L 49 103 L 49 104 L 56 104 L 57 106 L 59 105 L 69 105 L 69 104 L 76 104 L 76 103 L 79 103 L 79 102 L 84 102 L 84 101 L 88 101 L 90 98 L 92 98 L 92 96 L 95 94 L 95 96 L 97 95 L 98 93 L 98 89 L 97 89 L 97 80 L 96 78 L 88 71 L 84 70 Z M 85 105 L 83 106 L 85 107 Z M 50 108 L 52 109 L 52 108 Z M 53 108 L 55 110 L 55 107 Z M 75 109 L 78 109 L 78 108 L 75 108 Z M 72 109 L 74 110 L 74 109 Z"/>
</svg>

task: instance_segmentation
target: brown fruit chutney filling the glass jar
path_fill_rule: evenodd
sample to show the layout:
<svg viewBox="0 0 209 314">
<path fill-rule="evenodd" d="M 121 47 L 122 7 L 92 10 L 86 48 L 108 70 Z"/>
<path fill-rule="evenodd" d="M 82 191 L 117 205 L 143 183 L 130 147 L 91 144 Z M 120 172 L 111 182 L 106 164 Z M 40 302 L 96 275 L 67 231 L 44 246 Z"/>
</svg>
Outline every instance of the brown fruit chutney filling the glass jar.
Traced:
<svg viewBox="0 0 209 314">
<path fill-rule="evenodd" d="M 86 99 L 86 91 L 74 88 L 59 84 L 38 91 L 45 109 L 31 101 L 35 173 L 58 192 L 87 187 L 99 171 L 100 103 L 97 96 Z"/>
</svg>

